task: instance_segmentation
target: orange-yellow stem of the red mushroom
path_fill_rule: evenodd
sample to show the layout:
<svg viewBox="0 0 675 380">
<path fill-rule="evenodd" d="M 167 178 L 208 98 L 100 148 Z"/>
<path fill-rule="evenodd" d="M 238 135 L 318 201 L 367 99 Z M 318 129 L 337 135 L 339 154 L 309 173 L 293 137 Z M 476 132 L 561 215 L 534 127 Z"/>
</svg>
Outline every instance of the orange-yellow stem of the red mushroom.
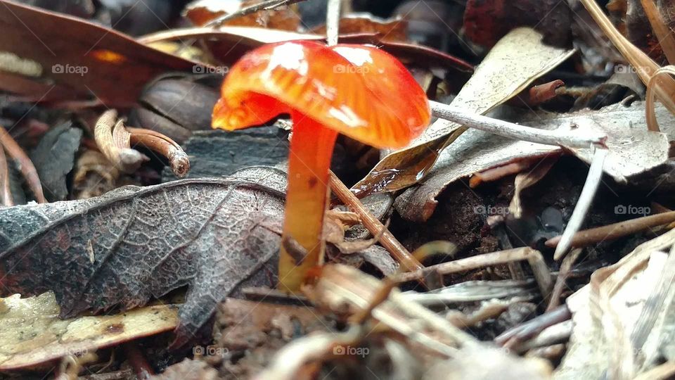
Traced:
<svg viewBox="0 0 675 380">
<path fill-rule="evenodd" d="M 328 195 L 330 157 L 338 132 L 323 127 L 302 113 L 291 113 L 293 136 L 288 156 L 288 189 L 282 241 L 293 240 L 304 252 L 290 252 L 282 244 L 279 284 L 284 291 L 298 291 L 311 268 L 323 261 L 326 246 L 321 237 Z"/>
</svg>

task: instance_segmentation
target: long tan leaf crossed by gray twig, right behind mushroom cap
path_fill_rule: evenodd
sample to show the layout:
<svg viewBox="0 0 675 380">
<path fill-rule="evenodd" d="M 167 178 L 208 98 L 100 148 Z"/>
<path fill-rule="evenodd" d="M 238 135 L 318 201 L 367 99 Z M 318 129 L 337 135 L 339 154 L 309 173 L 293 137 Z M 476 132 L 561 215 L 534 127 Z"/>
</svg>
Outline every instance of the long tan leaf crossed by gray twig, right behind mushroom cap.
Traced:
<svg viewBox="0 0 675 380">
<path fill-rule="evenodd" d="M 513 30 L 484 58 L 451 105 L 471 113 L 486 113 L 520 93 L 572 53 L 545 45 L 541 34 L 532 29 Z M 466 129 L 454 122 L 437 120 L 413 144 L 383 158 L 352 191 L 365 196 L 404 189 L 419 182 L 434 167 L 439 153 Z"/>
</svg>

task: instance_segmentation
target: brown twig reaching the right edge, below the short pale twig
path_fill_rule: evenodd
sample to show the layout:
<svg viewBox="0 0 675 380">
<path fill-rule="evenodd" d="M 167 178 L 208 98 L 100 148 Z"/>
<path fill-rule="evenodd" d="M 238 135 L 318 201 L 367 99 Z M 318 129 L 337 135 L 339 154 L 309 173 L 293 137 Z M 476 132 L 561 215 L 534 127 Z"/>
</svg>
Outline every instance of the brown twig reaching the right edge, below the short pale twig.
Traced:
<svg viewBox="0 0 675 380">
<path fill-rule="evenodd" d="M 650 227 L 661 226 L 671 222 L 675 222 L 675 211 L 645 217 L 636 217 L 635 219 L 624 220 L 624 222 L 608 224 L 603 227 L 585 229 L 572 236 L 572 247 L 585 247 L 602 241 L 619 239 L 622 236 L 635 234 L 636 232 L 644 231 Z M 546 246 L 558 246 L 560 237 L 561 236 L 555 236 L 548 239 L 546 241 Z"/>
</svg>

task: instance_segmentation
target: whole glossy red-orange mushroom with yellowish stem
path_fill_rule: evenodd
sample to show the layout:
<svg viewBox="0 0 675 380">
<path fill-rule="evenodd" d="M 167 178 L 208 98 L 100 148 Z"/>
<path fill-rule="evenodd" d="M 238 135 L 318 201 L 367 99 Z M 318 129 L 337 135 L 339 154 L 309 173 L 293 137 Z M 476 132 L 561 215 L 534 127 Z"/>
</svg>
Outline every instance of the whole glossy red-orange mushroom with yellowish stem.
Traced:
<svg viewBox="0 0 675 380">
<path fill-rule="evenodd" d="M 378 148 L 401 148 L 427 127 L 430 108 L 408 70 L 374 46 L 284 42 L 255 49 L 231 67 L 213 127 L 261 125 L 281 113 L 293 119 L 283 238 L 307 254 L 297 258 L 281 248 L 279 287 L 296 291 L 323 260 L 328 169 L 338 132 Z"/>
</svg>

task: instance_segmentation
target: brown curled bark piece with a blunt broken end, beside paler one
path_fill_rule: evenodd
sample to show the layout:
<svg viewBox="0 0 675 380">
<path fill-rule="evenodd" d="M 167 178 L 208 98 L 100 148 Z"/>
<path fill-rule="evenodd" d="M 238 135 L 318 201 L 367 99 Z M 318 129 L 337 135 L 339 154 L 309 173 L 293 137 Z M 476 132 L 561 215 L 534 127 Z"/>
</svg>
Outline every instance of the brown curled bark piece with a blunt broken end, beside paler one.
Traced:
<svg viewBox="0 0 675 380">
<path fill-rule="evenodd" d="M 134 144 L 134 146 L 143 144 L 151 151 L 165 156 L 169 160 L 169 166 L 171 166 L 171 170 L 176 177 L 183 178 L 188 174 L 190 159 L 176 141 L 151 129 L 127 127 L 127 132 L 130 132 L 131 144 Z"/>
</svg>

